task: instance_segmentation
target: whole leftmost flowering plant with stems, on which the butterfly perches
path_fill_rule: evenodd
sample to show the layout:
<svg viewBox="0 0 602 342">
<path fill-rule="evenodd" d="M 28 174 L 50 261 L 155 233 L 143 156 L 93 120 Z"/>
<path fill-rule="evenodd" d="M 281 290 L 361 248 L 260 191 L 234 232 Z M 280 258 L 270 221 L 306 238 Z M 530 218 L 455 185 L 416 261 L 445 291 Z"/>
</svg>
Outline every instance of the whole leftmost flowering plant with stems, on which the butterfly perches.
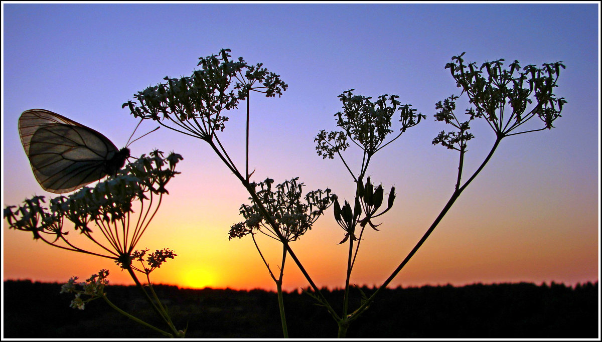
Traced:
<svg viewBox="0 0 602 342">
<path fill-rule="evenodd" d="M 175 167 L 180 160 L 182 157 L 179 154 L 171 153 L 163 157 L 163 152 L 155 150 L 149 156 L 141 155 L 128 163 L 114 177 L 99 182 L 94 188 L 83 187 L 69 196 L 55 197 L 50 200 L 48 207 L 44 205 L 44 196 L 34 196 L 25 199 L 24 205 L 18 208 L 6 207 L 4 218 L 9 223 L 9 229 L 31 232 L 35 240 L 72 252 L 107 258 L 119 264 L 129 273 L 171 332 L 149 325 L 114 305 L 104 292 L 108 285 L 108 271 L 104 269 L 85 282 L 78 283 L 78 277 L 72 277 L 63 285 L 61 293 L 75 293 L 75 299 L 71 302 L 73 308 L 84 309 L 86 303 L 102 298 L 113 309 L 147 328 L 168 337 L 183 336 L 184 331 L 178 331 L 173 325 L 169 313 L 154 293 L 149 278 L 154 269 L 176 254 L 169 249 L 161 249 L 147 256 L 150 267 L 144 264 L 136 267 L 133 264 L 134 261 L 143 261 L 148 251 L 134 249 L 159 210 L 163 196 L 167 194 L 167 182 L 179 173 Z M 65 219 L 73 223 L 73 234 L 79 231 L 87 238 L 86 246 L 81 245 L 82 241 L 74 243 L 70 239 L 70 231 L 64 225 Z M 136 272 L 146 276 L 146 285 L 138 280 Z M 89 298 L 84 300 L 82 294 Z"/>
</svg>

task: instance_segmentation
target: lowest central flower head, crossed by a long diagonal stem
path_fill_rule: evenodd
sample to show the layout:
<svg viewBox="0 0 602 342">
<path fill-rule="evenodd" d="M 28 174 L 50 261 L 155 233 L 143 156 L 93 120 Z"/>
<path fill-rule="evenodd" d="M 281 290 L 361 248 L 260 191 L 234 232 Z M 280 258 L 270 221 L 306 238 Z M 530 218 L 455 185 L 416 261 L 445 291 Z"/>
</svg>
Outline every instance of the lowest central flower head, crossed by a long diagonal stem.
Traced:
<svg viewBox="0 0 602 342">
<path fill-rule="evenodd" d="M 293 178 L 281 184 L 272 187 L 273 179 L 266 178 L 259 184 L 252 183 L 261 204 L 268 211 L 272 222 L 276 223 L 279 233 L 287 241 L 297 240 L 300 235 L 305 234 L 311 229 L 313 223 L 324 213 L 332 203 L 337 199 L 337 195 L 331 194 L 331 190 L 314 190 L 305 195 L 305 202 L 302 202 L 303 183 L 297 182 L 299 178 Z M 276 191 L 273 191 L 275 188 Z M 229 232 L 229 239 L 233 237 L 241 238 L 247 234 L 253 234 L 253 229 L 257 229 L 264 234 L 278 239 L 278 234 L 273 232 L 275 227 L 270 227 L 265 217 L 261 214 L 258 204 L 253 201 L 251 205 L 243 204 L 240 207 L 240 214 L 246 219 L 244 222 L 232 225 Z M 271 234 L 270 234 L 271 232 Z M 279 240 L 279 239 L 278 239 Z"/>
</svg>

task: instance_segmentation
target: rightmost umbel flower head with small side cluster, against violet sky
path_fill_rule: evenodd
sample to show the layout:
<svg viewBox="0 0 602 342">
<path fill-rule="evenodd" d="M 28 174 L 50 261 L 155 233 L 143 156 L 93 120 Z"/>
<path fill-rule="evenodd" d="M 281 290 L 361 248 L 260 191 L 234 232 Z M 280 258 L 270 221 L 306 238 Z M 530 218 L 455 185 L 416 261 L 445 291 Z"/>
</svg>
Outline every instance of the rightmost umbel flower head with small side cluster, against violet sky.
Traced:
<svg viewBox="0 0 602 342">
<path fill-rule="evenodd" d="M 458 96 L 437 102 L 435 108 L 439 111 L 435 119 L 451 124 L 458 131 L 442 131 L 433 140 L 433 145 L 441 144 L 458 151 L 465 149 L 466 141 L 473 138 L 467 133 L 469 122 L 479 117 L 486 120 L 498 138 L 554 127 L 552 123 L 560 117 L 562 105 L 566 104 L 564 98 L 557 98 L 553 93 L 560 68 L 565 67 L 562 61 L 544 63 L 541 68 L 530 64 L 521 72 L 517 60 L 509 64 L 509 69 L 502 69 L 503 59 L 477 67 L 474 62 L 464 64 L 463 55 L 464 52 L 452 57 L 445 69 L 450 69 L 456 86 L 462 89 L 461 95 L 466 93 L 468 102 L 474 107 L 466 110 L 469 119 L 461 122 L 453 113 Z M 533 107 L 527 110 L 530 104 Z M 512 132 L 535 116 L 544 122 L 543 128 Z"/>
</svg>

